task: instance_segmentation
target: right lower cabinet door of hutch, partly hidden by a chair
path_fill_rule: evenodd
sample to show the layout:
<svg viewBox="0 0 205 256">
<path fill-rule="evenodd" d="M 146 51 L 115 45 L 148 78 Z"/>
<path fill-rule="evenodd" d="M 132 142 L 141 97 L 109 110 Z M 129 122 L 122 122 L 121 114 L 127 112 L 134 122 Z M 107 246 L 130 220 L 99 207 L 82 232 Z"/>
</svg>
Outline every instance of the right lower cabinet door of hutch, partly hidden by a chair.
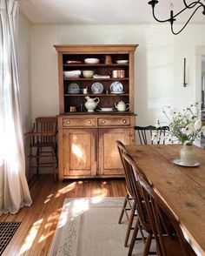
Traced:
<svg viewBox="0 0 205 256">
<path fill-rule="evenodd" d="M 124 174 L 116 140 L 126 145 L 132 144 L 133 138 L 133 128 L 99 129 L 99 175 Z"/>
</svg>

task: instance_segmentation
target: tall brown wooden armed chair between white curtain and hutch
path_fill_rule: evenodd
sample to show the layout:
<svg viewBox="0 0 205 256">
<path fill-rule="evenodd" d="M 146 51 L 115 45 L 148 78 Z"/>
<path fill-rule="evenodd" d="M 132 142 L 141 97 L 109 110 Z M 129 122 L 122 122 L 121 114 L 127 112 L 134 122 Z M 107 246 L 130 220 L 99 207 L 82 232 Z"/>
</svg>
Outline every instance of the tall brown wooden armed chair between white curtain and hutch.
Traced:
<svg viewBox="0 0 205 256">
<path fill-rule="evenodd" d="M 29 178 L 32 168 L 36 168 L 39 173 L 40 167 L 52 167 L 54 180 L 56 181 L 57 166 L 57 118 L 43 117 L 36 118 L 36 124 L 30 132 L 25 133 L 30 138 L 30 154 L 29 154 Z M 36 165 L 31 165 L 32 158 L 36 158 Z M 46 158 L 46 161 L 41 161 Z"/>
</svg>

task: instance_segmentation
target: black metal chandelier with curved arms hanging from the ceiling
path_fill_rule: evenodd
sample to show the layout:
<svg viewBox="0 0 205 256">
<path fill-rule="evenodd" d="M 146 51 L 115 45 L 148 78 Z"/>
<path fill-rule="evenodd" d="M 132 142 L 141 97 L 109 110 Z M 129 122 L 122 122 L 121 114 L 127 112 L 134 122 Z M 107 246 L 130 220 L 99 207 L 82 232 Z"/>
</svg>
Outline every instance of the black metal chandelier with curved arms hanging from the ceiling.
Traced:
<svg viewBox="0 0 205 256">
<path fill-rule="evenodd" d="M 193 3 L 187 3 L 186 0 L 183 0 L 183 3 L 185 5 L 185 7 L 180 10 L 178 13 L 176 13 L 174 15 L 174 12 L 173 10 L 170 10 L 170 17 L 166 20 L 160 20 L 158 19 L 157 17 L 155 17 L 155 4 L 156 3 L 159 3 L 159 1 L 157 0 L 151 0 L 149 1 L 149 4 L 152 6 L 152 14 L 153 14 L 153 17 L 155 18 L 155 20 L 159 23 L 165 23 L 165 22 L 169 22 L 171 24 L 171 31 L 174 35 L 178 35 L 180 32 L 182 32 L 182 30 L 186 27 L 186 25 L 188 24 L 189 20 L 195 15 L 195 12 L 196 10 L 202 8 L 202 14 L 205 15 L 205 4 L 202 3 L 202 1 L 205 2 L 205 0 L 199 0 L 199 1 L 194 1 Z M 193 11 L 192 15 L 188 18 L 188 21 L 186 22 L 186 24 L 183 25 L 182 29 L 175 32 L 174 29 L 173 29 L 173 24 L 176 20 L 176 17 L 181 14 L 184 10 L 188 10 L 188 9 L 192 9 L 194 8 L 195 10 Z"/>
</svg>

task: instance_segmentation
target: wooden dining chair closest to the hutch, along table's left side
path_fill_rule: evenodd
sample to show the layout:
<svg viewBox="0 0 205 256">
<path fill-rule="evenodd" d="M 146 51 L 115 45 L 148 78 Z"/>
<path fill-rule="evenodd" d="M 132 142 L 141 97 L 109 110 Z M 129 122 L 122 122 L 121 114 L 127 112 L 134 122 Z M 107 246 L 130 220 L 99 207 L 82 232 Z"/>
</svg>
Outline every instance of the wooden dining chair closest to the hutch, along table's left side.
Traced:
<svg viewBox="0 0 205 256">
<path fill-rule="evenodd" d="M 132 192 L 132 188 L 130 185 L 130 181 L 129 181 L 129 170 L 126 169 L 126 165 L 124 163 L 124 159 L 122 158 L 122 152 L 123 153 L 127 153 L 125 146 L 122 144 L 121 141 L 116 140 L 116 145 L 120 154 L 120 158 L 122 161 L 122 166 L 124 169 L 124 173 L 125 173 L 125 181 L 126 181 L 126 196 L 124 198 L 124 202 L 122 205 L 122 211 L 120 214 L 120 218 L 118 220 L 118 223 L 121 224 L 122 223 L 122 217 L 125 214 L 127 219 L 129 220 L 129 224 L 127 227 L 127 232 L 125 235 L 125 241 L 124 241 L 124 246 L 128 246 L 128 241 L 129 241 L 129 234 L 130 231 L 132 229 L 132 223 L 133 223 L 133 219 L 135 217 L 135 213 L 136 213 L 136 200 L 132 198 L 133 192 Z M 130 212 L 130 213 L 128 213 Z"/>
</svg>

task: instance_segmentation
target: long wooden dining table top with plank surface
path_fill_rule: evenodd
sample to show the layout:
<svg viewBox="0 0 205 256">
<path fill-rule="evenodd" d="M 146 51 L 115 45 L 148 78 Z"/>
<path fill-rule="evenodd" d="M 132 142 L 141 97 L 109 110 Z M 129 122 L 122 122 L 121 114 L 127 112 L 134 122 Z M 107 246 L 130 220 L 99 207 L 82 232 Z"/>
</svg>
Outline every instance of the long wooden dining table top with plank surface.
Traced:
<svg viewBox="0 0 205 256">
<path fill-rule="evenodd" d="M 175 165 L 182 145 L 126 145 L 162 200 L 174 212 L 197 255 L 205 255 L 205 150 L 195 146 L 197 167 Z"/>
</svg>

